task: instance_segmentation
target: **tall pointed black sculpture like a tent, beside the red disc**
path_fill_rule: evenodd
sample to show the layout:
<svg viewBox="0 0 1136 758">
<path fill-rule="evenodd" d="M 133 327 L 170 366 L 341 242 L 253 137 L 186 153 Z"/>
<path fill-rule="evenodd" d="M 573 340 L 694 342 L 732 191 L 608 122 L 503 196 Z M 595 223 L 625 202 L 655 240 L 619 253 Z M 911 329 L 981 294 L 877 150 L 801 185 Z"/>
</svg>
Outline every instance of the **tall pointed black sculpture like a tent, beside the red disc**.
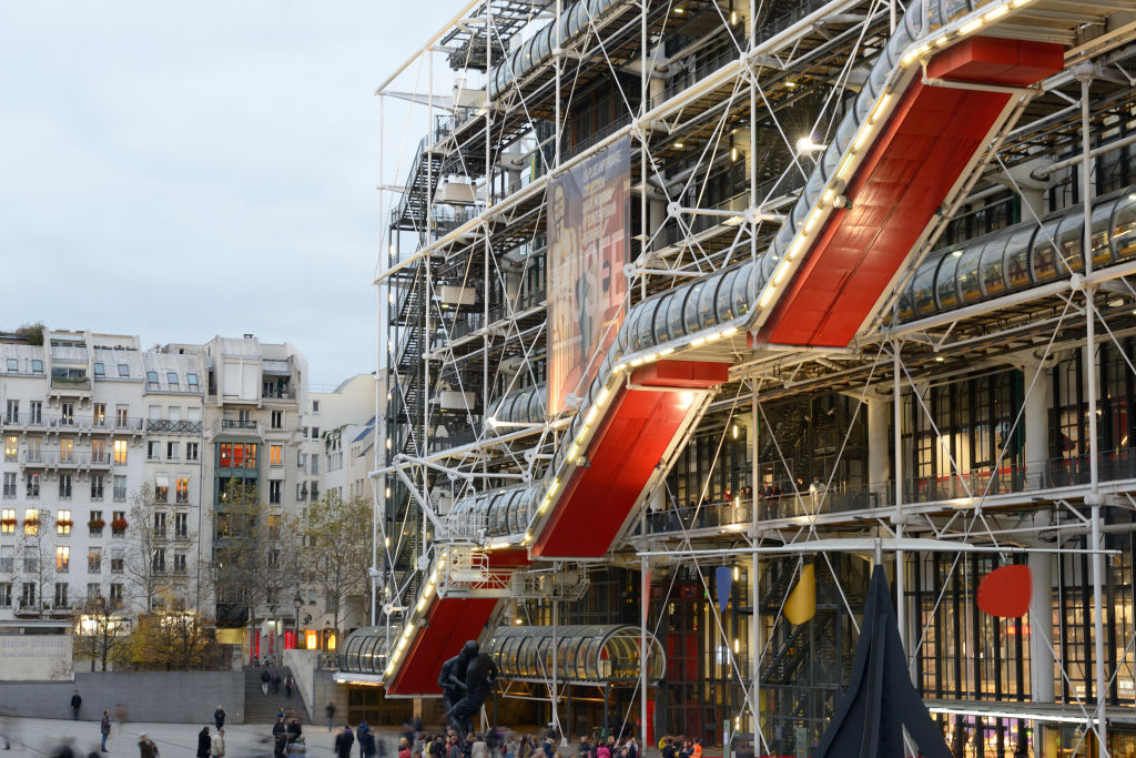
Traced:
<svg viewBox="0 0 1136 758">
<path fill-rule="evenodd" d="M 903 758 L 903 728 L 925 758 L 951 758 L 943 734 L 911 684 L 884 569 L 876 566 L 852 660 L 852 683 L 816 758 Z"/>
</svg>

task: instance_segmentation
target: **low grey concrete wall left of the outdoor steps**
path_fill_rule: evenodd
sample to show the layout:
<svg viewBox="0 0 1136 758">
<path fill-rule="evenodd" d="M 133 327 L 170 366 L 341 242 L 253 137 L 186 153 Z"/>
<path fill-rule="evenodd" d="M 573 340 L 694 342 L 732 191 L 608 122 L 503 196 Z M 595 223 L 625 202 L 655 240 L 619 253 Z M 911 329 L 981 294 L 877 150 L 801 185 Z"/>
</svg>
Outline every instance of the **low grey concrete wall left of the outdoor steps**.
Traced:
<svg viewBox="0 0 1136 758">
<path fill-rule="evenodd" d="M 212 724 L 220 703 L 226 723 L 244 722 L 244 672 L 76 672 L 75 682 L 0 682 L 0 710 L 34 718 L 70 718 L 70 697 L 83 698 L 80 718 L 98 720 L 122 703 L 132 722 Z"/>
</svg>

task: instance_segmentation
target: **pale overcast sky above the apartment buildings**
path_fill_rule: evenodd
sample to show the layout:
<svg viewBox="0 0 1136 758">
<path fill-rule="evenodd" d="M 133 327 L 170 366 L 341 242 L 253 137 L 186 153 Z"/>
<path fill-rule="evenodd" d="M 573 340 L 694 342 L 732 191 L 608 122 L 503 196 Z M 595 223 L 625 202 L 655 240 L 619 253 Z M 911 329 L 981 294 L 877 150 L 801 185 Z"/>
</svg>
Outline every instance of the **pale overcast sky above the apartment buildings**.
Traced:
<svg viewBox="0 0 1136 758">
<path fill-rule="evenodd" d="M 252 332 L 317 384 L 373 370 L 373 92 L 461 5 L 0 3 L 0 330 Z"/>
</svg>

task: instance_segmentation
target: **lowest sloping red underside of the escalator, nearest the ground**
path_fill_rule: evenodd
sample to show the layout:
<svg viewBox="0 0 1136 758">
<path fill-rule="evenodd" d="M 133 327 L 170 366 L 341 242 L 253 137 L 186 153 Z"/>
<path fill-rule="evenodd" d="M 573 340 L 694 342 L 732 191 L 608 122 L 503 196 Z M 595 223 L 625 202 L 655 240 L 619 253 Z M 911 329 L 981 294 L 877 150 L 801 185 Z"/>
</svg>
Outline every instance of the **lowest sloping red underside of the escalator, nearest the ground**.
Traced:
<svg viewBox="0 0 1136 758">
<path fill-rule="evenodd" d="M 496 598 L 436 598 L 386 691 L 403 695 L 440 693 L 437 675 L 442 664 L 458 655 L 467 640 L 481 636 L 496 603 Z"/>
</svg>

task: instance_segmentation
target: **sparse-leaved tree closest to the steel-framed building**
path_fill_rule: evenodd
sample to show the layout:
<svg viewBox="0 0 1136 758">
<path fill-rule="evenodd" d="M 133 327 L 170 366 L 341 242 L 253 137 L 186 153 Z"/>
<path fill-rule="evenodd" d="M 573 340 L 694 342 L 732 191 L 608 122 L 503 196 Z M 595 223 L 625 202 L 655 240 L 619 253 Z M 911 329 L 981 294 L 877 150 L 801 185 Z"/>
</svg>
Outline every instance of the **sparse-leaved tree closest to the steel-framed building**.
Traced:
<svg viewBox="0 0 1136 758">
<path fill-rule="evenodd" d="M 331 490 L 309 506 L 301 534 L 302 574 L 331 599 L 335 639 L 341 640 L 343 606 L 352 597 L 362 598 L 365 606 L 369 601 L 370 501 L 358 495 L 343 500 Z"/>
</svg>

